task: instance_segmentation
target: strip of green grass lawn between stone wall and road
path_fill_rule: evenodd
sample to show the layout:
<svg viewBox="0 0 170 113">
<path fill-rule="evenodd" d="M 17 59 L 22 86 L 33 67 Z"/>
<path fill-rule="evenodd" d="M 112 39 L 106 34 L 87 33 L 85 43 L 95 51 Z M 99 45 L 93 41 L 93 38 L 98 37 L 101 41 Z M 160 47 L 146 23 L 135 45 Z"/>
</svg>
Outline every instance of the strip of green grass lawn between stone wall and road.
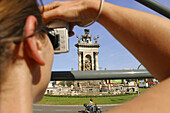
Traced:
<svg viewBox="0 0 170 113">
<path fill-rule="evenodd" d="M 140 92 L 144 92 L 146 89 L 140 89 Z M 121 104 L 132 98 L 136 97 L 137 94 L 131 95 L 116 95 L 109 97 L 85 97 L 85 96 L 44 96 L 44 98 L 38 104 L 50 104 L 50 105 L 83 105 L 89 103 L 89 99 L 93 98 L 96 104 Z"/>
</svg>

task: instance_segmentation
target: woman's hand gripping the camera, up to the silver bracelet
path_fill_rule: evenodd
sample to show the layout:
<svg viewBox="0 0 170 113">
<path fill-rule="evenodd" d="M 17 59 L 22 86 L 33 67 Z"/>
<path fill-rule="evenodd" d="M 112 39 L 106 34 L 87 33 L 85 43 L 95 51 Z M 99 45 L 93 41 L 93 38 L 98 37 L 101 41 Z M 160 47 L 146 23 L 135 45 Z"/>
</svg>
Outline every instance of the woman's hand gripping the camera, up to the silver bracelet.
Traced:
<svg viewBox="0 0 170 113">
<path fill-rule="evenodd" d="M 75 24 L 87 24 L 97 16 L 100 0 L 55 1 L 44 6 L 45 23 L 61 19 Z M 43 8 L 40 8 L 43 11 Z"/>
</svg>

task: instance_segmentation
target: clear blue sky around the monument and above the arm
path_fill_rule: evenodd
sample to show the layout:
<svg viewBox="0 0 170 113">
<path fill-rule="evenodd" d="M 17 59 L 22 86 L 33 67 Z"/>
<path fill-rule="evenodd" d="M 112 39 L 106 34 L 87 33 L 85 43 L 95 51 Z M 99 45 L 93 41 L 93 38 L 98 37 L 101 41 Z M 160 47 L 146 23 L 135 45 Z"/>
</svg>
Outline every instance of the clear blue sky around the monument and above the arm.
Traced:
<svg viewBox="0 0 170 113">
<path fill-rule="evenodd" d="M 54 0 L 43 0 L 44 4 L 53 2 Z M 59 0 L 65 1 L 65 0 Z M 105 0 L 106 2 L 124 6 L 140 11 L 159 15 L 158 13 L 146 8 L 145 6 L 137 3 L 135 0 Z M 156 0 L 161 4 L 170 8 L 170 0 Z M 159 15 L 161 16 L 161 15 Z M 78 55 L 77 48 L 74 46 L 78 40 L 76 35 L 83 35 L 84 29 L 82 27 L 75 27 L 75 36 L 69 38 L 70 41 L 70 52 L 64 54 L 54 55 L 54 62 L 52 71 L 70 71 L 71 68 L 78 70 Z M 101 45 L 99 48 L 99 69 L 104 70 L 122 70 L 126 68 L 137 69 L 140 62 L 131 55 L 104 27 L 100 24 L 95 23 L 90 27 L 90 35 L 96 37 L 99 35 L 98 43 Z"/>
</svg>

